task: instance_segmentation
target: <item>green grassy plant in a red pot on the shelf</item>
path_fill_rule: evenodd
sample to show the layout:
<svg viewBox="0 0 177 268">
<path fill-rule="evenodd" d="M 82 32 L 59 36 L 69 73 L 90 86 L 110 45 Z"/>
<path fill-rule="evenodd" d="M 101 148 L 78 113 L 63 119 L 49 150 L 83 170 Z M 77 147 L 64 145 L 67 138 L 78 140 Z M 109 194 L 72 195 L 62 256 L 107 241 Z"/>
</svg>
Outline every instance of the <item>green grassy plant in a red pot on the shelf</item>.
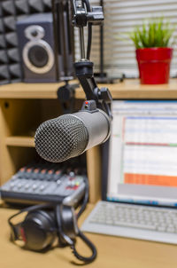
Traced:
<svg viewBox="0 0 177 268">
<path fill-rule="evenodd" d="M 142 84 L 168 83 L 174 29 L 161 19 L 144 22 L 130 34 L 135 43 L 140 81 Z"/>
</svg>

